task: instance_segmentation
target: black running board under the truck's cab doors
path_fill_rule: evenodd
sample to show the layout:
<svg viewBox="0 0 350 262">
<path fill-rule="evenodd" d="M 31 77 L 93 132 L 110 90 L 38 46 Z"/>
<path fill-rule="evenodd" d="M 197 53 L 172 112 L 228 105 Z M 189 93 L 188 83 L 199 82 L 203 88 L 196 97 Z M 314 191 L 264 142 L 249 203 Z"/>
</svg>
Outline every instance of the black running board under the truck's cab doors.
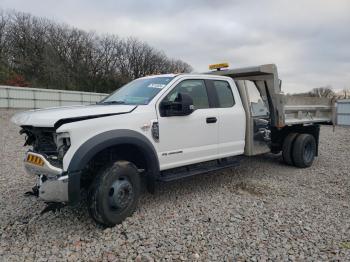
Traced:
<svg viewBox="0 0 350 262">
<path fill-rule="evenodd" d="M 173 168 L 161 172 L 159 181 L 170 182 L 177 179 L 191 177 L 195 175 L 214 172 L 217 170 L 239 166 L 239 159 L 230 157 L 229 159 L 219 159 L 200 164 L 193 164 L 184 167 Z"/>
</svg>

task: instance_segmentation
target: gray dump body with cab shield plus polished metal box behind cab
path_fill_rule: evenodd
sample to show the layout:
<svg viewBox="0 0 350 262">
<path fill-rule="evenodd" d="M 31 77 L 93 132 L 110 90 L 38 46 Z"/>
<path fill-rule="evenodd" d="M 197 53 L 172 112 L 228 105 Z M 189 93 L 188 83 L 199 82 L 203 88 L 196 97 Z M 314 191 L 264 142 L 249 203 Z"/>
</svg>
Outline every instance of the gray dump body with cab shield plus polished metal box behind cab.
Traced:
<svg viewBox="0 0 350 262">
<path fill-rule="evenodd" d="M 334 122 L 334 103 L 330 99 L 284 95 L 274 64 L 219 70 L 209 74 L 235 80 L 247 116 L 245 155 L 270 152 L 268 132 L 273 130 Z M 259 93 L 259 99 L 252 95 L 252 89 Z M 265 127 L 264 122 L 268 122 Z"/>
</svg>

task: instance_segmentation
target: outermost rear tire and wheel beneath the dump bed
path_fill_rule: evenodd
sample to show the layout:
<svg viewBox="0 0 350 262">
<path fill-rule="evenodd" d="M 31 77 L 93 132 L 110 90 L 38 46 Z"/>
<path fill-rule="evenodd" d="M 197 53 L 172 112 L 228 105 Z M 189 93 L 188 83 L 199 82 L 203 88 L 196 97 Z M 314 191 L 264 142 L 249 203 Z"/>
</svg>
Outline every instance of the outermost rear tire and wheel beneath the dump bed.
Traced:
<svg viewBox="0 0 350 262">
<path fill-rule="evenodd" d="M 297 136 L 293 146 L 293 162 L 297 167 L 305 168 L 312 165 L 316 156 L 316 141 L 310 134 Z"/>
</svg>

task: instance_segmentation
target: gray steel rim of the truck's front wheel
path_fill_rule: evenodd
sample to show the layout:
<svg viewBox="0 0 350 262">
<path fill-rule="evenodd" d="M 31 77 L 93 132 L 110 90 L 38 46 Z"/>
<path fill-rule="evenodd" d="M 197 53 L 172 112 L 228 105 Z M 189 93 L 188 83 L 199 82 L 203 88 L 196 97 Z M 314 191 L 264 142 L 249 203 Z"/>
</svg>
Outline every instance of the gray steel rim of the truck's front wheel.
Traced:
<svg viewBox="0 0 350 262">
<path fill-rule="evenodd" d="M 133 198 L 132 184 L 125 177 L 118 178 L 109 189 L 108 200 L 112 210 L 125 209 L 132 203 Z"/>
</svg>

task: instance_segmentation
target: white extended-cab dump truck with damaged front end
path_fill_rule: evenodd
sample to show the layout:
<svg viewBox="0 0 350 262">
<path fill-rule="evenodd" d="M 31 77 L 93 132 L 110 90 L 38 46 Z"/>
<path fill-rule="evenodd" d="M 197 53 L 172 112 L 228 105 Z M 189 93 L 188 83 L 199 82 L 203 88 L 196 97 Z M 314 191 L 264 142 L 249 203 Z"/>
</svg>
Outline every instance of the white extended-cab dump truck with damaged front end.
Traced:
<svg viewBox="0 0 350 262">
<path fill-rule="evenodd" d="M 92 218 L 113 226 L 143 186 L 154 192 L 157 181 L 232 167 L 242 155 L 282 152 L 288 165 L 309 167 L 332 103 L 288 100 L 273 64 L 217 69 L 139 78 L 95 105 L 16 114 L 33 193 L 64 205 L 86 195 Z"/>
</svg>

